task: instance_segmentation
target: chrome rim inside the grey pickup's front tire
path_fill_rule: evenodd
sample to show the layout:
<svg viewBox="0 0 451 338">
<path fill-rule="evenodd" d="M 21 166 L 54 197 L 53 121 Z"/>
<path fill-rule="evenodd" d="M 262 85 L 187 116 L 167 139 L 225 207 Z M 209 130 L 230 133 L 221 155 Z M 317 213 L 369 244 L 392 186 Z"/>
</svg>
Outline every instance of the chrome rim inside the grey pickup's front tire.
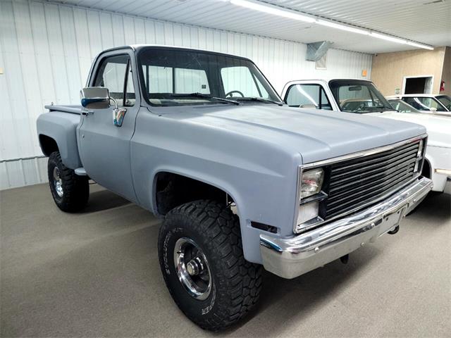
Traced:
<svg viewBox="0 0 451 338">
<path fill-rule="evenodd" d="M 211 273 L 206 257 L 197 244 L 187 237 L 175 242 L 174 265 L 178 279 L 188 294 L 203 301 L 211 292 Z"/>
</svg>

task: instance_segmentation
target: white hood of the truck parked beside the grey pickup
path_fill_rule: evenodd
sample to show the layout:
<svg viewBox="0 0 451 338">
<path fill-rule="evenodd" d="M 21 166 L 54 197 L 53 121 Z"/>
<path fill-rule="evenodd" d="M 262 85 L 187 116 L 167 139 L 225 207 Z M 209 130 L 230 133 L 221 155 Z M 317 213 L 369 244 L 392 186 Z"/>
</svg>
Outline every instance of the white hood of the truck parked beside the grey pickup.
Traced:
<svg viewBox="0 0 451 338">
<path fill-rule="evenodd" d="M 381 118 L 392 118 L 423 125 L 428 132 L 428 146 L 451 148 L 451 118 L 447 116 L 431 113 L 398 113 L 397 111 L 376 114 Z"/>
</svg>

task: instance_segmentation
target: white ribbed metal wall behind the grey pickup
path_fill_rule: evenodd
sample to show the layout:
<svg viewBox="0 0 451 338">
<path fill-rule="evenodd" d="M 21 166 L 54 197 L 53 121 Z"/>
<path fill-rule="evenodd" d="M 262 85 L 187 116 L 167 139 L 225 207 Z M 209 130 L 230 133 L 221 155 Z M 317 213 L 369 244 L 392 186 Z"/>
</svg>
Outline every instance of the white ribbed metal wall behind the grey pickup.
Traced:
<svg viewBox="0 0 451 338">
<path fill-rule="evenodd" d="M 0 189 L 47 181 L 35 127 L 44 104 L 78 104 L 94 56 L 140 43 L 247 56 L 278 92 L 289 80 L 362 77 L 362 70 L 371 76 L 370 54 L 329 49 L 327 69 L 316 70 L 314 62 L 305 61 L 306 44 L 43 1 L 2 0 Z"/>
</svg>

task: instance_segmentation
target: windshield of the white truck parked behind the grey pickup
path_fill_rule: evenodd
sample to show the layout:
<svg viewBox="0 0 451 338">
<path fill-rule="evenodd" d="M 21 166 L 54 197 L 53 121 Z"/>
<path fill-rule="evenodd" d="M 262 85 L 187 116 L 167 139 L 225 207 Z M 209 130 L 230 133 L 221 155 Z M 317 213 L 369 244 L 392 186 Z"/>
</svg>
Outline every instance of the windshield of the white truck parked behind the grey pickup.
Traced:
<svg viewBox="0 0 451 338">
<path fill-rule="evenodd" d="M 371 82 L 332 80 L 329 87 L 341 111 L 350 113 L 393 111 L 392 106 Z"/>
</svg>

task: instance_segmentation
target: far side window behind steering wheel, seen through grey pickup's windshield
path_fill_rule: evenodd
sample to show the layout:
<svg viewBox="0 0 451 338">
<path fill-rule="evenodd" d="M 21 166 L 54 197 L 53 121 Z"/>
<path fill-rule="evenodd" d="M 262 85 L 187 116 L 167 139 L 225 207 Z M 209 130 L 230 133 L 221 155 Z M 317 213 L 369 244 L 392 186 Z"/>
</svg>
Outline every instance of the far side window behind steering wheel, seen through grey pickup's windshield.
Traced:
<svg viewBox="0 0 451 338">
<path fill-rule="evenodd" d="M 247 67 L 222 68 L 221 80 L 223 81 L 224 93 L 232 92 L 229 96 L 269 98 L 268 92 Z"/>
</svg>

